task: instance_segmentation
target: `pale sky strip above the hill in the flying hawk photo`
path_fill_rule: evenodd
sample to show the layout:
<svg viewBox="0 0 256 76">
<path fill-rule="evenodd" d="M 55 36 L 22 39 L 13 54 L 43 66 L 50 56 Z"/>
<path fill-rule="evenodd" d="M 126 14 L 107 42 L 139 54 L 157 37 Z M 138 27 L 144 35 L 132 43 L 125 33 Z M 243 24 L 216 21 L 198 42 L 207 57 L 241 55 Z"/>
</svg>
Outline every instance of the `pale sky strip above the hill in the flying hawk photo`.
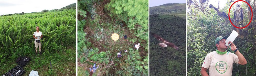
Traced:
<svg viewBox="0 0 256 76">
<path fill-rule="evenodd" d="M 159 6 L 168 3 L 186 3 L 186 0 L 149 0 L 149 7 Z"/>
</svg>

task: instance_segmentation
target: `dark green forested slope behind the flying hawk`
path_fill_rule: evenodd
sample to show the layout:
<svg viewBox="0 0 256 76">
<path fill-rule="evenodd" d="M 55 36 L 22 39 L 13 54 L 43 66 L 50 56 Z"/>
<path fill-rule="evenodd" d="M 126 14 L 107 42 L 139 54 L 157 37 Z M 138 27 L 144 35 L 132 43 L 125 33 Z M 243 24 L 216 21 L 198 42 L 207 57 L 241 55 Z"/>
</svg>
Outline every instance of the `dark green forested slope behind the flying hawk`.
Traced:
<svg viewBox="0 0 256 76">
<path fill-rule="evenodd" d="M 185 75 L 186 70 L 186 20 L 173 15 L 150 15 L 150 32 L 174 43 L 180 50 L 172 47 L 162 48 L 150 34 L 150 75 Z"/>
</svg>

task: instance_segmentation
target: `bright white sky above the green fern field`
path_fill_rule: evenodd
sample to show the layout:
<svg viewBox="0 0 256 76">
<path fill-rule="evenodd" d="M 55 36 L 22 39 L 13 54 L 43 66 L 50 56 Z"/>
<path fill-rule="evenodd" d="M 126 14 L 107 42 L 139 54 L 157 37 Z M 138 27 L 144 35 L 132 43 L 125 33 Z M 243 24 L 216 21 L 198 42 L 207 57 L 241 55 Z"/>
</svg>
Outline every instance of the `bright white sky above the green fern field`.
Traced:
<svg viewBox="0 0 256 76">
<path fill-rule="evenodd" d="M 0 15 L 60 9 L 76 2 L 77 0 L 1 0 Z"/>
</svg>

